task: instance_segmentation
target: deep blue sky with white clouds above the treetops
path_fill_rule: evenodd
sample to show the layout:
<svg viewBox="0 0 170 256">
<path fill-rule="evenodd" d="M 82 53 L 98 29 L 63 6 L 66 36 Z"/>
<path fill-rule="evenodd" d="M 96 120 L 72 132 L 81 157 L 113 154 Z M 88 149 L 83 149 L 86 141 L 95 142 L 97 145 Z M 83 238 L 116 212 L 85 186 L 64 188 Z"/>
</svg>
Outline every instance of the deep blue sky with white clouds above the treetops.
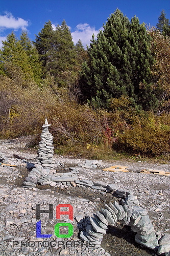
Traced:
<svg viewBox="0 0 170 256">
<path fill-rule="evenodd" d="M 156 26 L 163 9 L 170 19 L 170 0 L 1 0 L 0 47 L 12 31 L 19 37 L 27 30 L 35 40 L 45 22 L 51 20 L 55 28 L 65 19 L 74 43 L 80 38 L 86 48 L 116 8 L 129 19 L 136 15 L 140 23 L 151 26 Z"/>
</svg>

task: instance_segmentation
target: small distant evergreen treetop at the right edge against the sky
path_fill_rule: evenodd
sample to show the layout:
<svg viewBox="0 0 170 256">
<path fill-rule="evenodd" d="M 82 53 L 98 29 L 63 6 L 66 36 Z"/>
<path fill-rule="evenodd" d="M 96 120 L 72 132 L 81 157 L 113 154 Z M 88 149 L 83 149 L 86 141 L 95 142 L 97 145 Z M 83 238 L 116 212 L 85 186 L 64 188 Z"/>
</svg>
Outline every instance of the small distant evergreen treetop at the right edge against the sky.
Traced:
<svg viewBox="0 0 170 256">
<path fill-rule="evenodd" d="M 164 33 L 164 35 L 170 35 L 169 19 L 166 18 L 166 14 L 164 10 L 161 11 L 161 15 L 158 18 L 158 23 L 156 27 L 160 30 L 161 33 Z"/>
</svg>

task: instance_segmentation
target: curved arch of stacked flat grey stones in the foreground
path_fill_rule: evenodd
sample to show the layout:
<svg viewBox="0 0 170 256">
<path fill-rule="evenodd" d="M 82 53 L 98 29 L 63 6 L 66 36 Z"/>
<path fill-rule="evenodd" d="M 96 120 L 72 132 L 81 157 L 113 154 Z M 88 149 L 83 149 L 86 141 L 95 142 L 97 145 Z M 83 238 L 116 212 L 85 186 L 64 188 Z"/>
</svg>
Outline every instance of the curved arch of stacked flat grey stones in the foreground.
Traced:
<svg viewBox="0 0 170 256">
<path fill-rule="evenodd" d="M 115 191 L 118 197 L 124 197 L 122 204 L 109 202 L 105 204 L 105 209 L 97 211 L 93 217 L 89 218 L 86 229 L 80 232 L 80 238 L 86 242 L 92 242 L 100 245 L 103 239 L 103 234 L 106 233 L 108 225 L 115 226 L 117 221 L 125 225 L 131 226 L 134 232 L 136 243 L 147 248 L 156 250 L 158 255 L 168 253 L 170 250 L 170 235 L 165 235 L 160 239 L 154 232 L 154 226 L 148 215 L 148 211 L 139 206 L 137 196 L 127 191 Z M 159 243 L 158 243 L 159 240 Z"/>
</svg>

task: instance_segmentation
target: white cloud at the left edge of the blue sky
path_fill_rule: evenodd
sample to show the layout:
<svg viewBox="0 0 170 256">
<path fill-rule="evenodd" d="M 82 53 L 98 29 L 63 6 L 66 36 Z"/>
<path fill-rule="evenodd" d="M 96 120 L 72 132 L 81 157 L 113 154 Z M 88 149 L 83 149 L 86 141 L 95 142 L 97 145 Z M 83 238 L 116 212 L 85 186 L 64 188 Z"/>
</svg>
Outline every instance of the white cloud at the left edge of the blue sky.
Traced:
<svg viewBox="0 0 170 256">
<path fill-rule="evenodd" d="M 0 15 L 0 28 L 5 29 L 22 29 L 27 30 L 29 22 L 22 18 L 15 18 L 12 13 L 6 13 L 5 15 Z"/>
</svg>

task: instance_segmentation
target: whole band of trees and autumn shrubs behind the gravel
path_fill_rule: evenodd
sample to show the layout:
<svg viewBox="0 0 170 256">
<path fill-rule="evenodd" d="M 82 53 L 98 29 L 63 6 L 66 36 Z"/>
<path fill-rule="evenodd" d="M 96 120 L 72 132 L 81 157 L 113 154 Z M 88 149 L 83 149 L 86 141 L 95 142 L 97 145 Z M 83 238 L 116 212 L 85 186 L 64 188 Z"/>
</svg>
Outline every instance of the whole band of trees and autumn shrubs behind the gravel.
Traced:
<svg viewBox="0 0 170 256">
<path fill-rule="evenodd" d="M 7 36 L 0 50 L 0 139 L 32 136 L 45 117 L 55 153 L 95 159 L 170 153 L 170 23 L 110 14 L 85 49 L 63 20 L 31 41 Z"/>
</svg>

